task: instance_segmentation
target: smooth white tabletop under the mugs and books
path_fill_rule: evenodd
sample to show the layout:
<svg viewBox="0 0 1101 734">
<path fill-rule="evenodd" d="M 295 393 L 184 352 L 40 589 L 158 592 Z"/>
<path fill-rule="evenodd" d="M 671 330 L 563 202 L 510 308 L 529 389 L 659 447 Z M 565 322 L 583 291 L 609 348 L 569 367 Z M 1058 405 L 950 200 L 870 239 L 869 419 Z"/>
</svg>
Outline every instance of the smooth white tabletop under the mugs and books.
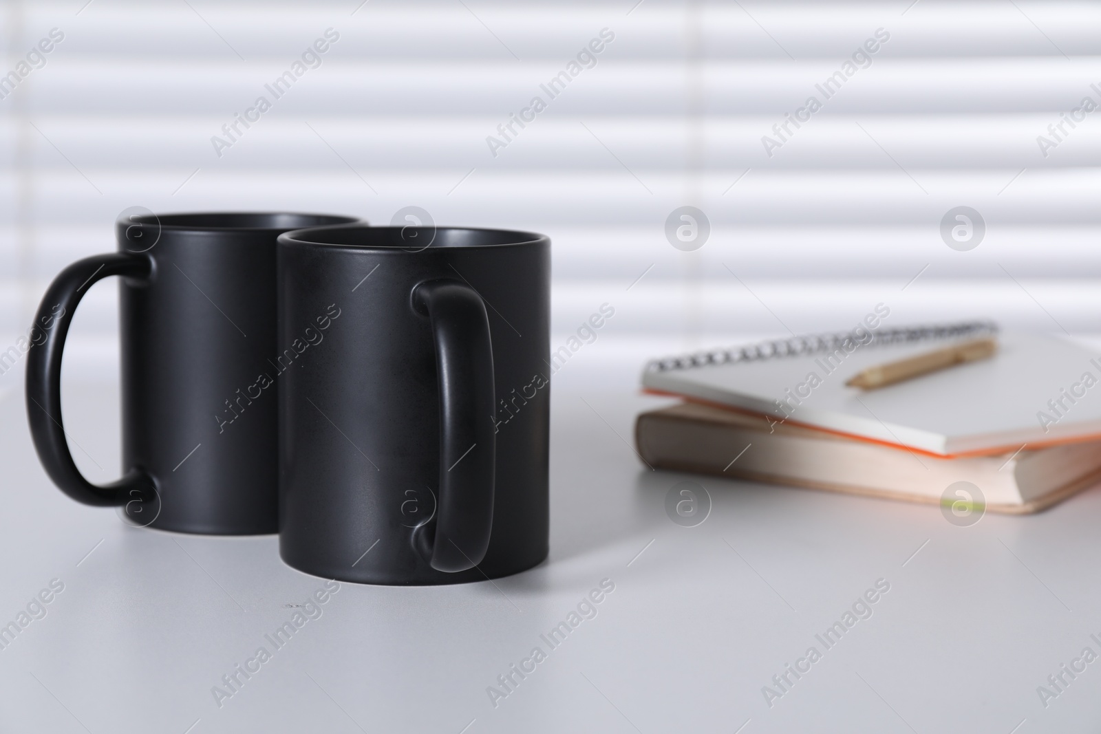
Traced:
<svg viewBox="0 0 1101 734">
<path fill-rule="evenodd" d="M 545 563 L 494 583 L 342 583 L 279 649 L 265 635 L 323 579 L 284 566 L 274 536 L 138 529 L 69 501 L 9 383 L 0 624 L 64 590 L 0 649 L 0 731 L 1098 731 L 1101 661 L 1073 660 L 1101 655 L 1101 491 L 957 527 L 936 506 L 652 472 L 626 441 L 662 402 L 635 380 L 553 395 Z M 97 481 L 118 467 L 117 395 L 66 387 Z M 695 527 L 665 511 L 684 480 L 712 501 Z M 552 648 L 541 635 L 604 579 L 597 615 Z M 827 649 L 816 634 L 881 579 L 872 615 Z M 270 659 L 219 706 L 211 689 L 260 647 Z M 545 659 L 494 706 L 487 689 L 535 647 Z M 781 692 L 773 676 L 809 647 L 820 659 L 770 706 L 763 687 Z M 1064 664 L 1086 669 L 1042 701 Z"/>
</svg>

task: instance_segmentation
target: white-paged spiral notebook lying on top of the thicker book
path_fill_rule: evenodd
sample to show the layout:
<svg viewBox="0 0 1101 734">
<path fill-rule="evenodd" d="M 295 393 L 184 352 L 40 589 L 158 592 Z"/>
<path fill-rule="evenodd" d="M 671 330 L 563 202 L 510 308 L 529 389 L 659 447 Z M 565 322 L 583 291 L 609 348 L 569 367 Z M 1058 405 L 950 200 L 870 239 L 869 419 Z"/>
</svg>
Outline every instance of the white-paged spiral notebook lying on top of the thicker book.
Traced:
<svg viewBox="0 0 1101 734">
<path fill-rule="evenodd" d="M 939 457 L 1101 439 L 1101 357 L 1067 339 L 999 333 L 998 353 L 873 391 L 870 366 L 999 331 L 989 321 L 796 337 L 654 360 L 647 392 Z M 864 342 L 864 343 L 861 343 Z"/>
</svg>

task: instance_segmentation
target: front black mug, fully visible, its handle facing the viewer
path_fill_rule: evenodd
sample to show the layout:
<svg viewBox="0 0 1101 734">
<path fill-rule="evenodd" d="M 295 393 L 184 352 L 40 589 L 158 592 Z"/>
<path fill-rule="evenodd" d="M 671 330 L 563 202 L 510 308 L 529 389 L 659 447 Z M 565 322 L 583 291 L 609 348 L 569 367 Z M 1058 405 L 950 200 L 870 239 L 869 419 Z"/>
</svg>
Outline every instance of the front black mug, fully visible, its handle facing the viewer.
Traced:
<svg viewBox="0 0 1101 734">
<path fill-rule="evenodd" d="M 406 585 L 546 558 L 549 274 L 528 232 L 279 238 L 284 561 Z"/>
</svg>

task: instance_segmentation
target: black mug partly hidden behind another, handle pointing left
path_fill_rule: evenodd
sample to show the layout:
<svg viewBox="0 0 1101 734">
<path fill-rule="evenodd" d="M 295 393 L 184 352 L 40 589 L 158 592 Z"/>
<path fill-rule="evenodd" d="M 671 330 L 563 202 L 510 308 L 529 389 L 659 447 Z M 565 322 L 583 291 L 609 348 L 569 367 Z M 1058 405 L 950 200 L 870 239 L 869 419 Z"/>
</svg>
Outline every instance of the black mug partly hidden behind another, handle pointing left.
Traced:
<svg viewBox="0 0 1101 734">
<path fill-rule="evenodd" d="M 28 352 L 34 448 L 65 494 L 122 508 L 124 519 L 181 533 L 277 529 L 275 238 L 353 217 L 178 213 L 120 218 L 118 252 L 54 280 Z M 95 485 L 77 469 L 61 405 L 62 352 L 92 283 L 120 282 L 122 465 Z M 269 375 L 264 379 L 263 375 Z"/>
</svg>

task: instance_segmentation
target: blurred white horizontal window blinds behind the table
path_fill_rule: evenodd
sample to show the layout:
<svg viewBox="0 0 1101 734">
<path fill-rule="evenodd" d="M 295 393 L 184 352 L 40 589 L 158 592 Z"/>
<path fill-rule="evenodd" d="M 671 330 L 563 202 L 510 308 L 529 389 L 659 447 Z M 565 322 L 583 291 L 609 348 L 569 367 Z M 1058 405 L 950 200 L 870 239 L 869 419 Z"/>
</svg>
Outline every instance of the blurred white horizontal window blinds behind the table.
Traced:
<svg viewBox="0 0 1101 734">
<path fill-rule="evenodd" d="M 650 357 L 848 329 L 880 303 L 886 326 L 1101 331 L 1095 2 L 7 0 L 0 13 L 0 74 L 15 73 L 0 78 L 0 352 L 62 267 L 115 249 L 112 222 L 135 206 L 383 224 L 416 206 L 437 224 L 545 232 L 552 348 L 602 304 L 615 311 L 556 375 L 567 388 L 582 374 L 633 387 Z M 276 99 L 265 85 L 329 29 L 319 65 Z M 29 56 L 44 39 L 51 51 Z M 595 65 L 552 98 L 541 85 L 595 39 Z M 260 96 L 271 109 L 224 132 Z M 536 96 L 545 110 L 499 131 Z M 821 109 L 785 131 L 809 97 Z M 683 206 L 710 226 L 693 251 L 666 234 Z M 961 206 L 981 219 L 969 249 L 941 230 Z M 117 288 L 81 304 L 67 375 L 117 379 Z M 23 369 L 0 365 L 0 391 Z"/>
</svg>

